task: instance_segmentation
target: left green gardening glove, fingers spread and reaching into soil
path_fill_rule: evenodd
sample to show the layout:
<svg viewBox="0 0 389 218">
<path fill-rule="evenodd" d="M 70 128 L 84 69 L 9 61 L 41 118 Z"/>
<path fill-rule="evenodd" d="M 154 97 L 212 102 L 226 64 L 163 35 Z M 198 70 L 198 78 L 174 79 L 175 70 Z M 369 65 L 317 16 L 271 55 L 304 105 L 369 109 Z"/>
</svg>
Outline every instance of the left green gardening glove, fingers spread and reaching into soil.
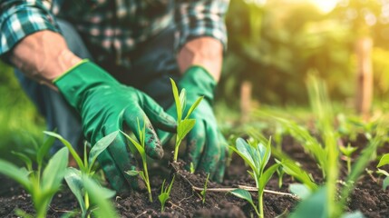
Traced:
<svg viewBox="0 0 389 218">
<path fill-rule="evenodd" d="M 163 149 L 153 126 L 175 132 L 174 119 L 159 104 L 141 91 L 122 85 L 99 66 L 89 61 L 75 65 L 54 84 L 69 104 L 81 115 L 83 134 L 92 145 L 103 136 L 126 125 L 139 140 L 137 117 L 146 125 L 146 153 L 160 159 Z M 98 160 L 112 187 L 122 192 L 128 184 L 137 188 L 138 179 L 124 171 L 135 170 L 136 161 L 127 152 L 122 134 L 99 155 Z"/>
</svg>

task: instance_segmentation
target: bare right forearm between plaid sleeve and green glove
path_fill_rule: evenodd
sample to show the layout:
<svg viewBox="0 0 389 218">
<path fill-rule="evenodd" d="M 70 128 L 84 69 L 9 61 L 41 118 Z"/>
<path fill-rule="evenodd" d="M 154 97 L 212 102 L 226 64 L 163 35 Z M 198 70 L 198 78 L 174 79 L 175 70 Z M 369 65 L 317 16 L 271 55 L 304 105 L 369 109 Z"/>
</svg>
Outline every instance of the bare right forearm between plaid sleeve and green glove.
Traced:
<svg viewBox="0 0 389 218">
<path fill-rule="evenodd" d="M 219 40 L 209 36 L 199 37 L 185 44 L 177 62 L 183 74 L 191 65 L 203 66 L 215 81 L 219 81 L 223 61 L 223 46 Z"/>
</svg>

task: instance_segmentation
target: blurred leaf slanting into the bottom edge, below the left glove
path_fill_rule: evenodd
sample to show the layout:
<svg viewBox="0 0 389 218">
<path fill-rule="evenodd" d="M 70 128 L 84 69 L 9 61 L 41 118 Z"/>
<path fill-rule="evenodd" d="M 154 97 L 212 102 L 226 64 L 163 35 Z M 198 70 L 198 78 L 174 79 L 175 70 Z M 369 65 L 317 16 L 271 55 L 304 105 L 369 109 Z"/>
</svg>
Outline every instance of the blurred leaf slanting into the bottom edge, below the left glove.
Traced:
<svg viewBox="0 0 389 218">
<path fill-rule="evenodd" d="M 102 189 L 98 183 L 94 182 L 91 178 L 86 176 L 83 176 L 83 184 L 85 191 L 91 198 L 92 203 L 95 203 L 98 207 L 93 211 L 96 217 L 119 217 L 112 203 L 105 198 L 107 196 L 106 189 Z"/>
</svg>

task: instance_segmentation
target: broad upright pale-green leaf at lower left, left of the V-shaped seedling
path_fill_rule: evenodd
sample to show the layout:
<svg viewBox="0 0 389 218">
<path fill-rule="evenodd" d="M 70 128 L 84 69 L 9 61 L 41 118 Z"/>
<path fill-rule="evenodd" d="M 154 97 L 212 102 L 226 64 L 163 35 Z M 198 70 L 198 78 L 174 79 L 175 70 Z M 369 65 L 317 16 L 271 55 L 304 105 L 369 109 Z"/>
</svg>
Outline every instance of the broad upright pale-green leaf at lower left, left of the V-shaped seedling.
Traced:
<svg viewBox="0 0 389 218">
<path fill-rule="evenodd" d="M 42 176 L 42 188 L 45 192 L 51 192 L 60 187 L 68 164 L 68 157 L 69 150 L 63 147 L 47 163 Z"/>
</svg>

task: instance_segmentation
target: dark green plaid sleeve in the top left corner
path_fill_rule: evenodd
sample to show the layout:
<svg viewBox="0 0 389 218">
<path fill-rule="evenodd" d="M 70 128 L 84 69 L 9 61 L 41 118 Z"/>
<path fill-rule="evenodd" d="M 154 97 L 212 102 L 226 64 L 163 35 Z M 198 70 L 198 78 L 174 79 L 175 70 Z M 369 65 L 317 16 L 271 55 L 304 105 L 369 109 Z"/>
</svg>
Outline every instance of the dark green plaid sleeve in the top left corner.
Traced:
<svg viewBox="0 0 389 218">
<path fill-rule="evenodd" d="M 26 35 L 42 30 L 59 32 L 50 2 L 44 0 L 0 0 L 0 56 L 9 52 Z"/>
</svg>

